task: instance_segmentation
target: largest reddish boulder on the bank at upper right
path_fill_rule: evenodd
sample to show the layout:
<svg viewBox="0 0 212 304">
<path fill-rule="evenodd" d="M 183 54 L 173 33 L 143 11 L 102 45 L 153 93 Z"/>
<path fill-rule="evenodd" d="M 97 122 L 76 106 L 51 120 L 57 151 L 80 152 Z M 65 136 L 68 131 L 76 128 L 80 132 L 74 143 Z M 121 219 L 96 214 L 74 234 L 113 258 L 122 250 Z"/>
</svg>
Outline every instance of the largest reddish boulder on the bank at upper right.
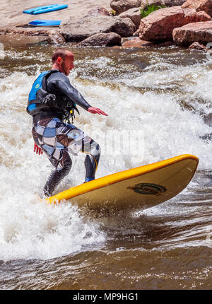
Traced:
<svg viewBox="0 0 212 304">
<path fill-rule="evenodd" d="M 210 21 L 211 17 L 204 11 L 196 12 L 192 8 L 183 9 L 181 6 L 161 8 L 141 19 L 139 37 L 148 41 L 172 40 L 174 28 L 187 23 Z"/>
</svg>

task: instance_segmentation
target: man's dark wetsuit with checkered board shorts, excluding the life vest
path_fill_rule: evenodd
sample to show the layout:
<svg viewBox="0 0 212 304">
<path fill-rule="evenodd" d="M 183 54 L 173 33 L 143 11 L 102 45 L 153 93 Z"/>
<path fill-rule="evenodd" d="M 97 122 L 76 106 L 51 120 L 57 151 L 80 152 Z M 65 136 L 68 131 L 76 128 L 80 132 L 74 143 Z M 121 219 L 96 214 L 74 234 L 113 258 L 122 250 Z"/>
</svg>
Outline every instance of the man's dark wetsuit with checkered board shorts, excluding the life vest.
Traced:
<svg viewBox="0 0 212 304">
<path fill-rule="evenodd" d="M 71 169 L 71 158 L 68 148 L 73 155 L 78 151 L 87 153 L 86 182 L 95 179 L 95 171 L 100 159 L 100 146 L 77 129 L 73 124 L 66 124 L 70 109 L 76 105 L 88 110 L 90 105 L 83 96 L 71 86 L 69 78 L 60 72 L 49 75 L 46 80 L 47 92 L 54 94 L 56 99 L 46 100 L 46 107 L 33 116 L 33 139 L 35 143 L 47 154 L 55 170 L 49 176 L 44 187 L 45 195 L 52 194 L 59 182 Z"/>
</svg>

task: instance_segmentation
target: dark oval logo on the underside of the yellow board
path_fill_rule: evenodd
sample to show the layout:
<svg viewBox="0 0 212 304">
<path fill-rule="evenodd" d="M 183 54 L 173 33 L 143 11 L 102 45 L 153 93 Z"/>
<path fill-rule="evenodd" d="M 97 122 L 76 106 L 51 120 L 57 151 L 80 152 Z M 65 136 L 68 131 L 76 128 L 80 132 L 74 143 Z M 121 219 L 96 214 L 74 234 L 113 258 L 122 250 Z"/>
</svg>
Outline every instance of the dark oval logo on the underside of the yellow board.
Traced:
<svg viewBox="0 0 212 304">
<path fill-rule="evenodd" d="M 134 192 L 139 194 L 152 194 L 157 196 L 167 191 L 167 189 L 161 185 L 149 183 L 136 184 L 134 187 L 127 187 L 127 189 L 133 189 Z"/>
</svg>

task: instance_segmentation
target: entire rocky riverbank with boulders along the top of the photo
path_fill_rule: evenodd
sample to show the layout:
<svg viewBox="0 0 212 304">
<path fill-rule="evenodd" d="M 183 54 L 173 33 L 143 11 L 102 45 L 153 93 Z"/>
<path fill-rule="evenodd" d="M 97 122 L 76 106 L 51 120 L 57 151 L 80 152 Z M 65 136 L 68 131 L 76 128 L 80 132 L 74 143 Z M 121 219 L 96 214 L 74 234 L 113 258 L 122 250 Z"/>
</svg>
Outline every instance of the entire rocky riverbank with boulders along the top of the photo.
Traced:
<svg viewBox="0 0 212 304">
<path fill-rule="evenodd" d="M 212 42 L 212 0 L 149 0 L 160 4 L 142 18 L 148 10 L 144 0 L 61 1 L 68 8 L 40 15 L 29 15 L 23 10 L 32 8 L 33 1 L 22 6 L 15 1 L 7 6 L 0 1 L 0 42 L 5 46 L 79 45 L 98 47 L 161 47 L 178 45 L 209 52 Z M 9 4 L 11 1 L 8 1 Z M 36 6 L 46 3 L 37 1 Z M 57 0 L 51 2 L 57 4 Z M 163 5 L 165 4 L 165 6 Z M 146 12 L 146 11 L 145 11 Z M 61 21 L 58 27 L 35 27 L 30 21 Z M 130 40 L 127 42 L 126 40 Z"/>
</svg>

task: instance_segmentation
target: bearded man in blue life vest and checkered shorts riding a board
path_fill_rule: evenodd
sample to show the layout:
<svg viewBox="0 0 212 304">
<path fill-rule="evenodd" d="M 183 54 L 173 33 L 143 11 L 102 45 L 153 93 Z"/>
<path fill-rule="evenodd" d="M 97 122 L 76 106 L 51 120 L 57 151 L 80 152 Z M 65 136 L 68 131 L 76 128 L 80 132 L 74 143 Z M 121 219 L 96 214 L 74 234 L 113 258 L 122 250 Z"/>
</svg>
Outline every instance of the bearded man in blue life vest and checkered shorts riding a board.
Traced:
<svg viewBox="0 0 212 304">
<path fill-rule="evenodd" d="M 73 61 L 73 53 L 68 49 L 56 49 L 52 70 L 37 77 L 29 94 L 27 112 L 33 116 L 34 151 L 44 151 L 55 168 L 44 187 L 47 197 L 71 170 L 68 148 L 73 155 L 78 151 L 87 153 L 85 182 L 95 179 L 100 159 L 100 146 L 69 121 L 70 116 L 73 121 L 74 110 L 78 112 L 76 105 L 92 114 L 107 116 L 99 108 L 91 107 L 71 86 L 67 76 L 74 67 Z"/>
</svg>

